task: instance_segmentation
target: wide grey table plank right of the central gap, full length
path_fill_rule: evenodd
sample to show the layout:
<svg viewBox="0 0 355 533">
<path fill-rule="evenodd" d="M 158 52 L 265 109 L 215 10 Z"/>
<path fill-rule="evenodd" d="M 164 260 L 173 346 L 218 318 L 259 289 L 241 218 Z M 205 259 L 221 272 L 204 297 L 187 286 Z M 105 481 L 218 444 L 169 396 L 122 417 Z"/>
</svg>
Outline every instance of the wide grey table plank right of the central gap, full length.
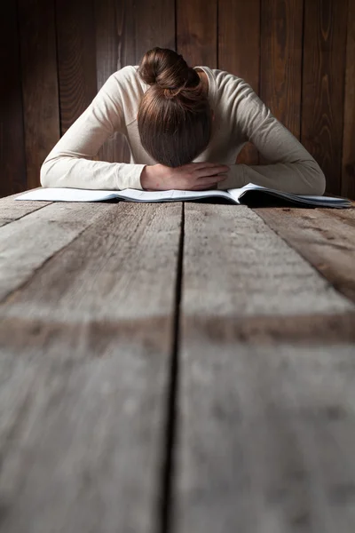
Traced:
<svg viewBox="0 0 355 533">
<path fill-rule="evenodd" d="M 185 204 L 184 250 L 175 530 L 351 533 L 355 306 L 245 207 Z"/>
</svg>

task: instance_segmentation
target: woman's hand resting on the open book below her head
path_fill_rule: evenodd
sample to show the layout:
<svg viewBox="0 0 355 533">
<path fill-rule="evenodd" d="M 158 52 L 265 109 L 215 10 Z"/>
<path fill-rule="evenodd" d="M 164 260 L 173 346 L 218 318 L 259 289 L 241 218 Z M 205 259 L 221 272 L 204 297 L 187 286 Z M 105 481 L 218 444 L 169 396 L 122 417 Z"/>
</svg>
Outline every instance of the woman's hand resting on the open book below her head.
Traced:
<svg viewBox="0 0 355 533">
<path fill-rule="evenodd" d="M 226 178 L 227 171 L 229 166 L 220 163 L 188 163 L 176 168 L 163 164 L 146 165 L 140 183 L 150 191 L 203 191 L 216 188 L 217 183 Z"/>
</svg>

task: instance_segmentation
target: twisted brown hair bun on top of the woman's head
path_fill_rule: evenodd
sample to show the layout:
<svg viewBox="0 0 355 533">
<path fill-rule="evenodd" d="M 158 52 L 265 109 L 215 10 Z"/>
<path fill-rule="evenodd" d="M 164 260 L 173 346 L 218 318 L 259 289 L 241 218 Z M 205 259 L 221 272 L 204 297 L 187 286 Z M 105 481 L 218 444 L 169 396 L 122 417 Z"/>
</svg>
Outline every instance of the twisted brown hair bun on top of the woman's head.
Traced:
<svg viewBox="0 0 355 533">
<path fill-rule="evenodd" d="M 168 48 L 155 47 L 146 52 L 140 60 L 138 74 L 146 84 L 162 87 L 164 94 L 171 91 L 175 95 L 182 88 L 200 84 L 199 75 L 188 67 L 183 56 Z"/>
</svg>

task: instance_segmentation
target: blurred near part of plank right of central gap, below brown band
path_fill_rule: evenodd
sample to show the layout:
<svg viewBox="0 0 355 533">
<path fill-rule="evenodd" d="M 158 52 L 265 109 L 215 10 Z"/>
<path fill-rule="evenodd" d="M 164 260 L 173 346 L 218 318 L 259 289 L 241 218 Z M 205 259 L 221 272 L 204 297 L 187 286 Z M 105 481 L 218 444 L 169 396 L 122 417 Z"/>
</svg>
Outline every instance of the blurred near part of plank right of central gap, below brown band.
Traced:
<svg viewBox="0 0 355 533">
<path fill-rule="evenodd" d="M 354 344 L 207 337 L 185 346 L 177 533 L 352 533 Z"/>
</svg>

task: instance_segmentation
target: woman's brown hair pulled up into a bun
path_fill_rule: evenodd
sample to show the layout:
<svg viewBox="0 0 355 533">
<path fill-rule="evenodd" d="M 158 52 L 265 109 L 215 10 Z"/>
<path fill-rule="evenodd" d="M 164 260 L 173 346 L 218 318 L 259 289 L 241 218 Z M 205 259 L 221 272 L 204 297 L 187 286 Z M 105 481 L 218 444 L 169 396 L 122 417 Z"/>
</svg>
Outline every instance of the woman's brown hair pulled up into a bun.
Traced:
<svg viewBox="0 0 355 533">
<path fill-rule="evenodd" d="M 191 163 L 209 144 L 212 129 L 200 76 L 177 52 L 158 47 L 143 56 L 138 74 L 151 85 L 138 110 L 142 146 L 158 163 Z"/>
</svg>

